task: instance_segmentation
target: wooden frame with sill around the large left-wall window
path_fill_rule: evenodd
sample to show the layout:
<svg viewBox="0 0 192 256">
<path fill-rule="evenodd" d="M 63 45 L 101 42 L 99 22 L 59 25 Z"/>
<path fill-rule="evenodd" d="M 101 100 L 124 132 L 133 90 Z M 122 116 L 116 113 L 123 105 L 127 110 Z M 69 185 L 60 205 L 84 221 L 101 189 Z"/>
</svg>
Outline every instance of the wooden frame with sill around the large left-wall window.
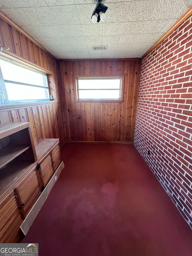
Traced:
<svg viewBox="0 0 192 256">
<path fill-rule="evenodd" d="M 20 66 L 22 68 L 29 69 L 31 71 L 40 73 L 40 74 L 46 74 L 47 77 L 47 83 L 48 83 L 48 90 L 49 90 L 49 95 L 52 95 L 53 100 L 50 99 L 43 99 L 43 100 L 18 100 L 18 101 L 8 101 L 8 98 L 6 95 L 1 95 L 1 98 L 3 98 L 4 103 L 2 102 L 0 98 L 0 108 L 7 108 L 7 107 L 12 107 L 12 106 L 33 106 L 33 105 L 42 105 L 42 104 L 52 104 L 57 101 L 57 96 L 56 96 L 56 89 L 55 89 L 55 79 L 54 79 L 54 74 L 40 66 L 35 65 L 32 62 L 29 62 L 21 57 L 15 57 L 13 54 L 9 53 L 9 55 L 6 53 L 0 52 L 0 58 L 4 61 L 10 62 L 14 65 Z M 3 85 L 2 85 L 3 83 Z M 2 76 L 2 72 L 0 70 L 0 92 L 1 90 L 5 87 L 4 84 L 4 78 Z"/>
</svg>

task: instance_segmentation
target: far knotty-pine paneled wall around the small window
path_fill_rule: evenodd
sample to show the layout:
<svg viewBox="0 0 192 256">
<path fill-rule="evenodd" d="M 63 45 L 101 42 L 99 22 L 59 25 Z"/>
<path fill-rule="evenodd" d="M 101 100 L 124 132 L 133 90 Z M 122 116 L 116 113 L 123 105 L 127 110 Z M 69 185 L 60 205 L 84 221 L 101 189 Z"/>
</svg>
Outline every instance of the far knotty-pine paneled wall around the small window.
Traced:
<svg viewBox="0 0 192 256">
<path fill-rule="evenodd" d="M 133 143 L 140 60 L 60 62 L 70 141 Z M 123 102 L 76 101 L 76 76 L 124 76 Z"/>
</svg>

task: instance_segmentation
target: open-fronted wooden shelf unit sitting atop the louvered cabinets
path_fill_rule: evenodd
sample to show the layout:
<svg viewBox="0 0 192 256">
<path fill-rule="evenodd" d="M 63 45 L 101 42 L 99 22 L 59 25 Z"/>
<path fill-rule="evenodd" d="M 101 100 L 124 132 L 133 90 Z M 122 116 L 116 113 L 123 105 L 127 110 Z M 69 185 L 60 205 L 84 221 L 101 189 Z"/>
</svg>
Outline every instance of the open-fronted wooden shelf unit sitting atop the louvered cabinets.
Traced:
<svg viewBox="0 0 192 256">
<path fill-rule="evenodd" d="M 28 122 L 0 124 L 0 199 L 37 161 Z"/>
</svg>

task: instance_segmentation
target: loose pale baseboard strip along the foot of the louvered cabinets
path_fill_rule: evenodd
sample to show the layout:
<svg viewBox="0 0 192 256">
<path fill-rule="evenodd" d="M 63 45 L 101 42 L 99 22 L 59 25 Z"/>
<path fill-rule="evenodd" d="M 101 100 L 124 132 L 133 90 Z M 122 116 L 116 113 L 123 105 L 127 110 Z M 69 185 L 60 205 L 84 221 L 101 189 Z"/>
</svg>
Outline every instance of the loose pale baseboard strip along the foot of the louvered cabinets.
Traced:
<svg viewBox="0 0 192 256">
<path fill-rule="evenodd" d="M 30 227 L 33 224 L 33 221 L 37 217 L 39 211 L 41 210 L 41 207 L 45 203 L 45 200 L 47 199 L 48 195 L 50 194 L 53 186 L 55 185 L 55 182 L 57 181 L 59 175 L 61 174 L 61 171 L 64 168 L 64 163 L 63 161 L 57 168 L 56 172 L 53 174 L 52 178 L 50 179 L 49 183 L 46 185 L 44 191 L 41 193 L 39 196 L 38 200 L 32 207 L 31 211 L 28 213 L 27 217 L 23 221 L 23 223 L 20 226 L 20 229 L 22 233 L 26 236 L 27 232 L 29 231 Z"/>
</svg>

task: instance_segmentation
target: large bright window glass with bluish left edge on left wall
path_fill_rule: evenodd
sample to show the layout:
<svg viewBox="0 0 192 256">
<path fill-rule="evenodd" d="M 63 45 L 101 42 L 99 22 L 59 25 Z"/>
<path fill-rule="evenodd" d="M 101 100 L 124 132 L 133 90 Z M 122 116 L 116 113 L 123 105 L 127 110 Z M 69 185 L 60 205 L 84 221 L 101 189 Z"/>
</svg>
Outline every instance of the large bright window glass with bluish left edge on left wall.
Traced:
<svg viewBox="0 0 192 256">
<path fill-rule="evenodd" d="M 47 75 L 0 59 L 1 104 L 48 101 Z"/>
</svg>

